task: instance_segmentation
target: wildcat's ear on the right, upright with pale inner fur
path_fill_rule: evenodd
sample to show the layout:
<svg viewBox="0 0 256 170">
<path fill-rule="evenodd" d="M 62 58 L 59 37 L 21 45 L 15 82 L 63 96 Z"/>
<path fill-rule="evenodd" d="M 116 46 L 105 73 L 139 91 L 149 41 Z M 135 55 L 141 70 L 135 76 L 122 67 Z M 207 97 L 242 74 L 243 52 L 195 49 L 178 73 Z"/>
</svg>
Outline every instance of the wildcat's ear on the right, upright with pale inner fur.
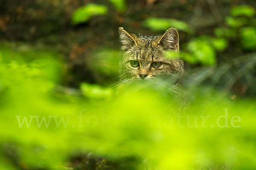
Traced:
<svg viewBox="0 0 256 170">
<path fill-rule="evenodd" d="M 179 34 L 176 28 L 169 28 L 158 40 L 157 44 L 164 50 L 179 50 Z"/>
</svg>

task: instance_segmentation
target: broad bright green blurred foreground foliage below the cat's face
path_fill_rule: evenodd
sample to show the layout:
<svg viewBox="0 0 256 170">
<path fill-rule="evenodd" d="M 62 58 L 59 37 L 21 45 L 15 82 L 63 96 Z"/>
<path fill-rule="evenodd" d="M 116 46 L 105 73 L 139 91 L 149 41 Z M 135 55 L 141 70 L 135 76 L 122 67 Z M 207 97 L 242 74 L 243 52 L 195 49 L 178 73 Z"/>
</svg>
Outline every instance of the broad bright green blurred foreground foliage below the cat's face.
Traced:
<svg viewBox="0 0 256 170">
<path fill-rule="evenodd" d="M 7 52 L 1 50 L 1 55 L 5 58 L 20 53 L 4 49 Z M 128 169 L 256 168 L 256 127 L 252 121 L 255 99 L 232 102 L 210 88 L 198 87 L 191 92 L 191 104 L 182 113 L 178 97 L 158 80 L 113 89 L 82 83 L 84 97 L 65 94 L 69 97 L 64 98 L 54 90 L 58 81 L 45 77 L 45 73 L 60 77 L 62 64 L 55 53 L 44 56 L 51 67 L 32 56 L 34 59 L 26 62 L 17 57 L 0 63 L 0 82 L 4 87 L 1 94 L 5 98 L 0 103 L 5 115 L 0 128 L 8 129 L 0 133 L 3 169 L 64 169 L 73 166 L 70 155 L 81 152 L 93 152 L 110 160 L 120 156 L 145 160 L 135 161 Z M 216 120 L 225 115 L 225 108 L 230 127 L 218 127 Z M 178 119 L 179 115 L 183 119 Z M 189 125 L 185 115 L 191 116 Z M 204 125 L 200 116 L 209 116 Z M 241 117 L 241 122 L 234 123 L 241 127 L 231 126 L 233 116 Z M 27 122 L 19 127 L 24 117 Z M 220 125 L 225 125 L 225 121 L 222 119 Z M 16 150 L 12 153 L 15 160 L 9 150 Z"/>
</svg>

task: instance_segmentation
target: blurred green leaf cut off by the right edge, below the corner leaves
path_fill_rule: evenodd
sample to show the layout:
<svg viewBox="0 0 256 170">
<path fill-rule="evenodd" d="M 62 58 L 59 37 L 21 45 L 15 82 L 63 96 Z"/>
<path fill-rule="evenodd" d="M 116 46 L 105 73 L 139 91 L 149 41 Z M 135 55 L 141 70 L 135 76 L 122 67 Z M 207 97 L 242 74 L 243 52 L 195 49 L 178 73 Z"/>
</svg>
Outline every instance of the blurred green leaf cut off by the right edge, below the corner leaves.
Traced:
<svg viewBox="0 0 256 170">
<path fill-rule="evenodd" d="M 256 48 L 256 28 L 245 27 L 240 31 L 241 44 L 245 49 Z"/>
</svg>

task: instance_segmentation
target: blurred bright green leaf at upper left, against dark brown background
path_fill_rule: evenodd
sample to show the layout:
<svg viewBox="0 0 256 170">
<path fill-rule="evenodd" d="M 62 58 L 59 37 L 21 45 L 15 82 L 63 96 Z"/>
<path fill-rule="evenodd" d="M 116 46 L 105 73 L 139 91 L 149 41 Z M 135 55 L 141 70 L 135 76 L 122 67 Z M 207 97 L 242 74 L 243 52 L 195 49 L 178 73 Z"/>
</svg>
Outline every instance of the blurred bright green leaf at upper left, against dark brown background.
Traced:
<svg viewBox="0 0 256 170">
<path fill-rule="evenodd" d="M 104 15 L 108 8 L 103 5 L 90 3 L 87 6 L 80 7 L 72 15 L 72 23 L 79 24 L 88 21 L 94 15 Z"/>
</svg>

